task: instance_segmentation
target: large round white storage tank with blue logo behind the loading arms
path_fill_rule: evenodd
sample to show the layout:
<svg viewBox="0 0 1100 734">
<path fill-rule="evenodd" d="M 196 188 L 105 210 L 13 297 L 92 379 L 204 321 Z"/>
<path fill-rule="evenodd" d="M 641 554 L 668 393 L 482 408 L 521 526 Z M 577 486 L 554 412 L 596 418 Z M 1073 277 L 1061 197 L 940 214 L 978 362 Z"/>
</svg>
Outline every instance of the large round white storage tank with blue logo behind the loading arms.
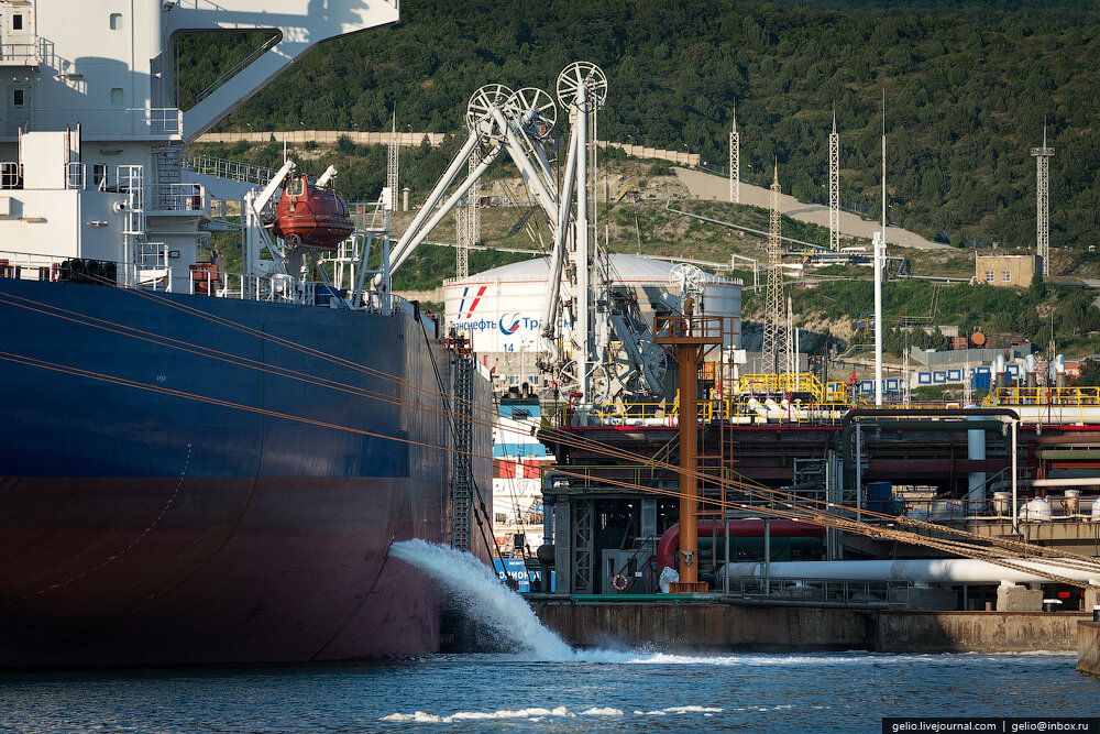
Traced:
<svg viewBox="0 0 1100 734">
<path fill-rule="evenodd" d="M 674 296 L 679 306 L 680 287 L 671 285 L 675 263 L 635 255 L 612 255 L 612 271 L 617 287 L 630 287 L 652 327 L 651 302 Z M 443 284 L 444 315 L 448 327 L 471 338 L 482 355 L 531 352 L 541 349 L 542 299 L 550 265 L 546 258 L 535 258 L 510 265 L 452 278 Z M 564 282 L 564 281 L 563 281 Z M 730 317 L 734 332 L 727 347 L 740 347 L 741 284 L 708 275 L 703 297 L 695 304 L 696 316 Z M 569 324 L 560 325 L 564 336 Z"/>
</svg>

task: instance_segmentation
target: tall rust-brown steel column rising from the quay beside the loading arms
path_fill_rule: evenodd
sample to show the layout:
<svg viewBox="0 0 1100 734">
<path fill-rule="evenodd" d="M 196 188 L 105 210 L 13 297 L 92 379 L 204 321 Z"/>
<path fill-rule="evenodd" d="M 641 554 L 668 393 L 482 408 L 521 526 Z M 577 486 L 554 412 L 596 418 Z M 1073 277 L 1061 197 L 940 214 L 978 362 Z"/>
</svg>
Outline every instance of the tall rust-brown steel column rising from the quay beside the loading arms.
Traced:
<svg viewBox="0 0 1100 734">
<path fill-rule="evenodd" d="M 698 347 L 676 344 L 680 366 L 680 582 L 698 581 Z"/>
</svg>

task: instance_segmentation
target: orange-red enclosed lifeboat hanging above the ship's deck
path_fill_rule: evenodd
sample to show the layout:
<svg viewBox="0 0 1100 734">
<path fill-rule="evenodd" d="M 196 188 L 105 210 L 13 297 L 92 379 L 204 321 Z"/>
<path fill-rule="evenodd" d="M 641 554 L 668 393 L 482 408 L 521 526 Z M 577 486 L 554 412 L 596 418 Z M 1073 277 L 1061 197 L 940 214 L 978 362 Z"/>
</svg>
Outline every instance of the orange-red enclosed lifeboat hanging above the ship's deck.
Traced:
<svg viewBox="0 0 1100 734">
<path fill-rule="evenodd" d="M 289 180 L 275 207 L 275 234 L 292 248 L 336 250 L 354 229 L 348 202 L 305 174 Z"/>
</svg>

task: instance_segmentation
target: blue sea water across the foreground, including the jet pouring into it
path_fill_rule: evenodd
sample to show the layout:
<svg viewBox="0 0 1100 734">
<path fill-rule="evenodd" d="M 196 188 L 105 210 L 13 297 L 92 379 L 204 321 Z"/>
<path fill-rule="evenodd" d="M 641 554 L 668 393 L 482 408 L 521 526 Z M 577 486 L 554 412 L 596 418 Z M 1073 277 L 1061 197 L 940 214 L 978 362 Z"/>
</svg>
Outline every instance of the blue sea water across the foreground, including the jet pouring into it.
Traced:
<svg viewBox="0 0 1100 734">
<path fill-rule="evenodd" d="M 573 650 L 491 571 L 395 544 L 446 578 L 514 654 L 376 666 L 9 676 L 0 731 L 881 731 L 883 716 L 1096 716 L 1100 681 L 1067 654 L 670 655 Z"/>
</svg>

